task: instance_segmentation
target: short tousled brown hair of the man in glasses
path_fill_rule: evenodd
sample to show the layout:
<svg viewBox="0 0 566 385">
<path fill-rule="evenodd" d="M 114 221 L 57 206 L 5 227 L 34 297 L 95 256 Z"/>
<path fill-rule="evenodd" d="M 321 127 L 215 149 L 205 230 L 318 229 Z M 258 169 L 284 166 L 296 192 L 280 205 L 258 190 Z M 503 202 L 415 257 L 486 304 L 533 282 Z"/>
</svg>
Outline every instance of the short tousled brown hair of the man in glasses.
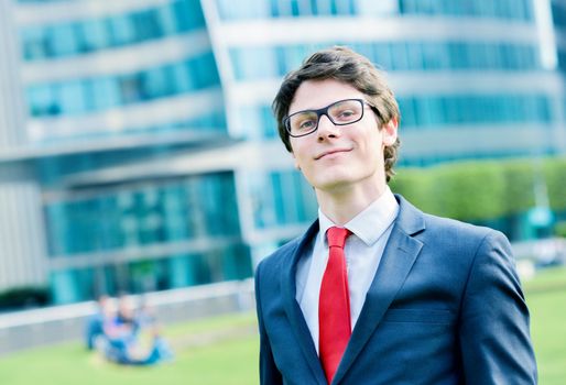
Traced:
<svg viewBox="0 0 566 385">
<path fill-rule="evenodd" d="M 400 120 L 398 102 L 385 82 L 383 74 L 364 56 L 342 47 L 335 46 L 315 52 L 301 67 L 289 73 L 272 103 L 273 113 L 277 120 L 279 135 L 285 148 L 292 152 L 289 132 L 283 119 L 289 114 L 295 92 L 303 81 L 334 79 L 348 84 L 367 96 L 381 127 L 391 119 Z M 399 138 L 384 150 L 385 175 L 389 182 L 395 174 L 393 166 L 398 160 Z"/>
</svg>

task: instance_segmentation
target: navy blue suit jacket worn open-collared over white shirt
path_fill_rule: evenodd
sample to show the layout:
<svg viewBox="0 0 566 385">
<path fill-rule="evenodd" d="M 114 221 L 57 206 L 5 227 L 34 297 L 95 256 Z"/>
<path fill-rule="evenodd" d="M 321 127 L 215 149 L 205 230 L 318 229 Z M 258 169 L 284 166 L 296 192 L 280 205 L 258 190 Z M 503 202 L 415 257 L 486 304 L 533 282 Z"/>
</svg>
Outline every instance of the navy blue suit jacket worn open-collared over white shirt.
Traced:
<svg viewBox="0 0 566 385">
<path fill-rule="evenodd" d="M 507 238 L 400 212 L 333 384 L 535 384 L 525 306 Z M 307 232 L 255 273 L 261 384 L 326 384 L 295 300 Z"/>
</svg>

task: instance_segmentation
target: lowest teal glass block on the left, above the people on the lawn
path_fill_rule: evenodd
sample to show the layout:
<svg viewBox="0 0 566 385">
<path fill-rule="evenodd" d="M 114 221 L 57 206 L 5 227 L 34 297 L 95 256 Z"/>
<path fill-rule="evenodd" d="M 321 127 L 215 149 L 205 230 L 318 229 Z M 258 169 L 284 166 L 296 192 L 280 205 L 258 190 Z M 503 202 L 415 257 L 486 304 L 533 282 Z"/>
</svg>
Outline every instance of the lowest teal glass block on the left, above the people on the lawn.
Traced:
<svg viewBox="0 0 566 385">
<path fill-rule="evenodd" d="M 86 257 L 92 264 L 52 273 L 57 301 L 85 300 L 96 293 L 142 293 L 241 279 L 251 274 L 249 254 L 239 238 L 231 173 L 98 188 L 86 197 L 78 191 L 48 202 L 45 218 L 52 258 L 72 265 L 77 257 Z M 139 250 L 143 250 L 141 258 L 128 256 Z M 118 255 L 119 262 L 97 262 L 108 253 Z"/>
</svg>

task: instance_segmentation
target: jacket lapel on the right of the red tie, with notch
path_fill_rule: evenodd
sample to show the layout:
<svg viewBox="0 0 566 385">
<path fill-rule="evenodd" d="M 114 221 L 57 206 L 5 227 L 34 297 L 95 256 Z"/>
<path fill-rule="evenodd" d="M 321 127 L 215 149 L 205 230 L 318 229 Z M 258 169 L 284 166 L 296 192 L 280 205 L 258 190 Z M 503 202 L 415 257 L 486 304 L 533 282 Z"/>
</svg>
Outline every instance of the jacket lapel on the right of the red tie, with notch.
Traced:
<svg viewBox="0 0 566 385">
<path fill-rule="evenodd" d="M 396 198 L 400 201 L 398 219 L 333 383 L 341 380 L 381 322 L 423 246 L 411 237 L 424 230 L 422 212 L 400 196 Z"/>
</svg>

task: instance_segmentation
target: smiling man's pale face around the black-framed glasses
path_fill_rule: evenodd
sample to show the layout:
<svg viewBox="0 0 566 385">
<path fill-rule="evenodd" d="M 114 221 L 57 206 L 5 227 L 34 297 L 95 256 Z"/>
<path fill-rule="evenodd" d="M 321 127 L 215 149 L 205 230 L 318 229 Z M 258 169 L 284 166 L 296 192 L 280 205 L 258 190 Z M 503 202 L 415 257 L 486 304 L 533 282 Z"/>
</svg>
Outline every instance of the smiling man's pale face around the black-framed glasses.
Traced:
<svg viewBox="0 0 566 385">
<path fill-rule="evenodd" d="M 352 86 L 334 80 L 308 80 L 297 91 L 289 114 L 316 110 L 338 100 L 366 99 Z M 340 193 L 349 188 L 363 193 L 385 185 L 383 148 L 396 140 L 396 121 L 381 130 L 379 120 L 369 106 L 363 118 L 348 125 L 335 125 L 322 116 L 318 129 L 302 138 L 291 138 L 295 165 L 317 193 Z M 369 190 L 368 190 L 369 189 Z"/>
</svg>

